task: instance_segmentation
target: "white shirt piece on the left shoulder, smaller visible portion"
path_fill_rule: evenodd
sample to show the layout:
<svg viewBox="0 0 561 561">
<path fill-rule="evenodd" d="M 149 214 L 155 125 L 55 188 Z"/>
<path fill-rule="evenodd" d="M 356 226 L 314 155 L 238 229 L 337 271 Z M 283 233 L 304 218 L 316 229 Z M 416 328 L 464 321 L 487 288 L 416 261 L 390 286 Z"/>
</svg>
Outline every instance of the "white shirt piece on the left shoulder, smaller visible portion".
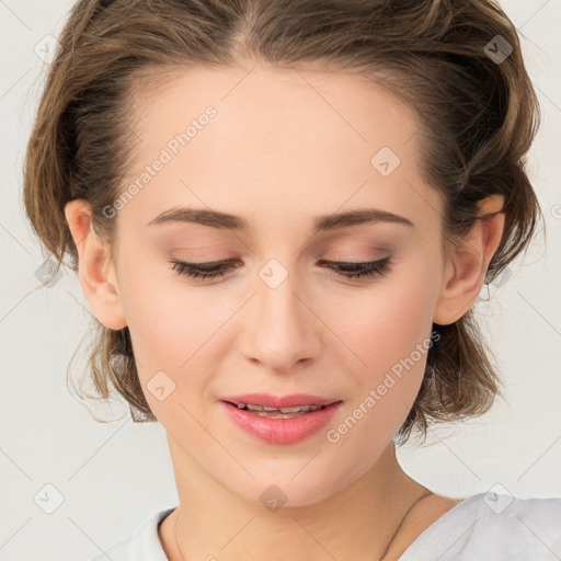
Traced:
<svg viewBox="0 0 561 561">
<path fill-rule="evenodd" d="M 158 536 L 158 526 L 174 508 L 151 514 L 130 534 L 90 561 L 168 561 Z"/>
</svg>

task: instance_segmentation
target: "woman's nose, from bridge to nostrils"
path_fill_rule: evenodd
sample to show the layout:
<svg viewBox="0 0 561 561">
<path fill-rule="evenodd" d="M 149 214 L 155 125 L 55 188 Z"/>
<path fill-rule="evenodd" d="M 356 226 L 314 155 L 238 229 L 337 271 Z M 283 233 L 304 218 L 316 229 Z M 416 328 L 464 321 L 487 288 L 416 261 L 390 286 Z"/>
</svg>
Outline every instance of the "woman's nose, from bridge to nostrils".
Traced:
<svg viewBox="0 0 561 561">
<path fill-rule="evenodd" d="M 299 363 L 319 356 L 321 321 L 297 275 L 272 260 L 254 286 L 239 342 L 243 355 L 277 374 L 294 371 Z"/>
</svg>

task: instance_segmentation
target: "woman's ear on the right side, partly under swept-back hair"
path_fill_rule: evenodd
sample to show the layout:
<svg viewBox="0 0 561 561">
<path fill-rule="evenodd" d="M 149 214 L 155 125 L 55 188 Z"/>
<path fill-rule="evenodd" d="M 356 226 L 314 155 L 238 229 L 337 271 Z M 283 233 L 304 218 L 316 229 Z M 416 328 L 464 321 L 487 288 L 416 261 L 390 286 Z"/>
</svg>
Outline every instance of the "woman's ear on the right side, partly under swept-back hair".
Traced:
<svg viewBox="0 0 561 561">
<path fill-rule="evenodd" d="M 489 263 L 504 230 L 502 213 L 504 197 L 492 195 L 482 199 L 478 218 L 469 232 L 459 240 L 447 257 L 440 293 L 434 312 L 434 323 L 447 325 L 461 318 L 477 300 Z M 494 214 L 497 213 L 497 214 Z M 486 215 L 491 215 L 485 217 Z"/>
</svg>

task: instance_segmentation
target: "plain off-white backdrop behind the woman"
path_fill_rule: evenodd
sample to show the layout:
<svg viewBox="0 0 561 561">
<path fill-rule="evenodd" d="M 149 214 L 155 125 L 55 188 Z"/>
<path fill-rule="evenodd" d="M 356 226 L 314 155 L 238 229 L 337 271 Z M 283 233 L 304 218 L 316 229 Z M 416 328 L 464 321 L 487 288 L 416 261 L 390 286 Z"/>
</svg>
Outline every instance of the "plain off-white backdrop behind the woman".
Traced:
<svg viewBox="0 0 561 561">
<path fill-rule="evenodd" d="M 67 366 L 90 318 L 75 274 L 36 289 L 46 254 L 24 216 L 21 170 L 47 64 L 42 42 L 57 35 L 71 4 L 0 0 L 1 560 L 85 560 L 178 503 L 163 428 L 133 423 L 118 405 L 91 405 L 115 419 L 98 423 L 67 389 Z M 398 449 L 411 477 L 455 497 L 490 489 L 561 496 L 561 1 L 503 7 L 522 34 L 542 107 L 528 170 L 547 241 L 536 237 L 524 262 L 484 288 L 477 305 L 506 402 L 431 431 L 423 447 Z"/>
</svg>

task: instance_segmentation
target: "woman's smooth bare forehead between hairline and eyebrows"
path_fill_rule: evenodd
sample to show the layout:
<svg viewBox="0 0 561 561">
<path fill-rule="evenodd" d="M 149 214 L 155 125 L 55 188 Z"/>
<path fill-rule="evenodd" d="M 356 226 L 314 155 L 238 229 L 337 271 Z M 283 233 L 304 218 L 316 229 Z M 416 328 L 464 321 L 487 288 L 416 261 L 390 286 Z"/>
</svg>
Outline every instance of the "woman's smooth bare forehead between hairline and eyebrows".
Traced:
<svg viewBox="0 0 561 561">
<path fill-rule="evenodd" d="M 124 209 L 136 207 L 145 225 L 170 203 L 247 217 L 265 205 L 285 220 L 375 204 L 411 217 L 435 195 L 421 193 L 414 112 L 364 77 L 178 68 L 139 85 L 131 106 L 140 141 L 123 187 L 165 160 Z M 437 205 L 428 202 L 433 220 Z"/>
</svg>

